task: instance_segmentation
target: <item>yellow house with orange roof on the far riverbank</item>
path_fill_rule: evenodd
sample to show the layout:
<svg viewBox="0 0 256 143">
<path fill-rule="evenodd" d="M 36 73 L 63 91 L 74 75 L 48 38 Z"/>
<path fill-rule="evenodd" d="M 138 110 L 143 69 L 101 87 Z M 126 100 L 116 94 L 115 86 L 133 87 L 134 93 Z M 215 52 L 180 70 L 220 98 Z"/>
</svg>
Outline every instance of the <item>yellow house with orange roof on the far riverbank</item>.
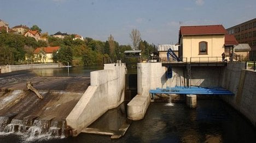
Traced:
<svg viewBox="0 0 256 143">
<path fill-rule="evenodd" d="M 53 53 L 60 49 L 57 47 L 39 47 L 34 51 L 34 61 L 38 63 L 53 63 Z"/>
</svg>

